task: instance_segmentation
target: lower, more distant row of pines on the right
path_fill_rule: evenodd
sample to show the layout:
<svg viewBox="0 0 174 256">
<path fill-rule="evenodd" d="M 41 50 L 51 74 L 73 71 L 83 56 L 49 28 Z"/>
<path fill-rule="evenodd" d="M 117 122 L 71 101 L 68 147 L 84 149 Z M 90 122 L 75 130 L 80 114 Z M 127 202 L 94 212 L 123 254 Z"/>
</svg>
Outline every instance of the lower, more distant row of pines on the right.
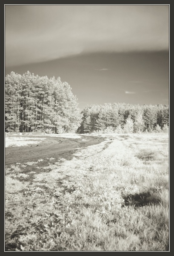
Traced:
<svg viewBox="0 0 174 256">
<path fill-rule="evenodd" d="M 86 106 L 81 113 L 80 133 L 160 131 L 169 125 L 169 106 L 161 104 L 106 103 Z"/>
</svg>

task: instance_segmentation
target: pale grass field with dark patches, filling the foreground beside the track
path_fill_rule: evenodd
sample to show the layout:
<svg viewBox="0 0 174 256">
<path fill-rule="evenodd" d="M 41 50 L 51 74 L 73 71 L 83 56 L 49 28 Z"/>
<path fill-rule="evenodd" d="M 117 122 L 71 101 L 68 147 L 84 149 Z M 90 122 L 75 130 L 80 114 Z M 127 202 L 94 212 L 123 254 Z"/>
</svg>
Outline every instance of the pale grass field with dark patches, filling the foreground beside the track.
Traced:
<svg viewBox="0 0 174 256">
<path fill-rule="evenodd" d="M 106 134 L 53 160 L 6 167 L 6 251 L 169 250 L 168 134 Z"/>
</svg>

